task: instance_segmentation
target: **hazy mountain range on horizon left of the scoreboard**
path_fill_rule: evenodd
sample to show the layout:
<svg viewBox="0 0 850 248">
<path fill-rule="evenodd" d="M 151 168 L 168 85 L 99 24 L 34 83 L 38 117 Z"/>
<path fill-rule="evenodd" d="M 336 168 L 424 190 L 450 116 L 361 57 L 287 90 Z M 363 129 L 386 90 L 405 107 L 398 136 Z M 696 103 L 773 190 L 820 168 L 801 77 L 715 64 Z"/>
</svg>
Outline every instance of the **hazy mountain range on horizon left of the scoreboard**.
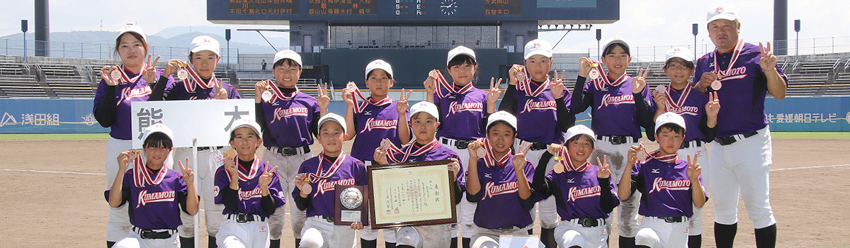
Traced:
<svg viewBox="0 0 850 248">
<path fill-rule="evenodd" d="M 269 27 L 274 28 L 274 27 Z M 280 26 L 286 28 L 286 26 Z M 221 43 L 221 48 L 227 48 L 227 41 L 224 40 L 224 27 L 216 26 L 173 26 L 163 29 L 154 34 L 147 34 L 148 43 L 151 46 L 160 49 L 161 47 L 189 48 L 192 38 L 207 35 L 213 37 Z M 94 44 L 109 44 L 115 43 L 114 31 L 70 31 L 70 32 L 50 32 L 51 50 L 56 50 L 65 43 L 65 46 L 74 46 L 79 43 L 94 43 Z M 289 48 L 289 33 L 286 32 L 271 32 L 263 31 L 263 35 L 269 39 L 275 48 L 283 50 Z M 8 47 L 12 48 L 14 42 L 23 40 L 23 34 L 13 34 L 0 37 L 0 46 L 5 46 L 8 42 Z M 236 31 L 231 29 L 230 32 L 230 49 L 236 52 L 238 49 L 240 54 L 275 54 L 275 49 L 269 46 L 256 31 Z M 35 40 L 35 34 L 28 32 L 26 41 L 30 45 Z M 14 46 L 20 47 L 20 45 Z M 2 49 L 2 48 L 0 48 Z M 32 48 L 28 48 L 31 50 Z M 77 49 L 79 50 L 79 49 Z M 54 52 L 55 53 L 55 52 Z"/>
</svg>

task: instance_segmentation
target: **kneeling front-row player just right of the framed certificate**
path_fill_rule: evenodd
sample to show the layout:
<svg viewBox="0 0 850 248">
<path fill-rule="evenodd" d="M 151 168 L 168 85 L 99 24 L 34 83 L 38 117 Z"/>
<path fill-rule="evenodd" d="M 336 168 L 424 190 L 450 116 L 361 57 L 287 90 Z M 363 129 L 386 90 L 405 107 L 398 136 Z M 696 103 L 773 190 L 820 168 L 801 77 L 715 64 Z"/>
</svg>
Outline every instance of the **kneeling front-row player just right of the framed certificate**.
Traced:
<svg viewBox="0 0 850 248">
<path fill-rule="evenodd" d="M 477 202 L 473 212 L 472 247 L 499 246 L 500 235 L 524 235 L 534 223 L 530 210 L 538 197 L 531 192 L 534 166 L 525 160 L 531 144 L 512 154 L 517 117 L 499 111 L 487 120 L 487 138 L 468 146 L 467 197 Z M 479 158 L 479 152 L 483 157 Z M 510 162 L 510 163 L 508 163 Z M 493 218 L 499 216 L 500 218 Z"/>
</svg>

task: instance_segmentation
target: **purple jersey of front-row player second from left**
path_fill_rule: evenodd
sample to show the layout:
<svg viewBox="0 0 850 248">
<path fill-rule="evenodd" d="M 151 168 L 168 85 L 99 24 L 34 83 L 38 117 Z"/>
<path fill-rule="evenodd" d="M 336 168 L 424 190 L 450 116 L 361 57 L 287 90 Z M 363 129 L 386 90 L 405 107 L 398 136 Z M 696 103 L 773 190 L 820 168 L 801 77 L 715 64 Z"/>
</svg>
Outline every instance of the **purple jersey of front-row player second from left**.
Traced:
<svg viewBox="0 0 850 248">
<path fill-rule="evenodd" d="M 237 190 L 237 194 L 239 194 L 239 202 L 236 204 L 236 211 L 224 208 L 222 213 L 231 214 L 244 212 L 256 214 L 261 217 L 269 217 L 269 214 L 263 211 L 261 203 L 261 200 L 263 200 L 263 190 L 260 189 L 259 185 L 260 176 L 263 175 L 263 172 L 269 170 L 269 168 L 267 168 L 268 164 L 264 161 L 259 161 L 257 158 L 254 158 L 254 160 L 255 162 L 252 164 L 252 168 L 244 168 L 238 163 L 236 164 L 239 172 L 251 176 L 251 171 L 256 171 L 256 174 L 252 175 L 252 178 L 247 178 L 247 180 L 243 180 L 241 175 L 237 176 L 240 179 L 238 179 L 239 190 Z M 256 167 L 256 169 L 253 167 Z M 275 174 L 276 173 L 277 172 L 275 172 Z M 218 170 L 215 172 L 215 187 L 213 188 L 213 191 L 215 192 L 215 204 L 224 204 L 221 192 L 229 187 L 229 173 L 224 169 L 224 166 L 218 166 Z M 277 175 L 271 178 L 271 183 L 269 183 L 269 195 L 275 199 L 276 207 L 283 206 L 286 203 L 286 193 L 283 192 L 283 189 L 280 187 L 280 180 Z"/>
</svg>

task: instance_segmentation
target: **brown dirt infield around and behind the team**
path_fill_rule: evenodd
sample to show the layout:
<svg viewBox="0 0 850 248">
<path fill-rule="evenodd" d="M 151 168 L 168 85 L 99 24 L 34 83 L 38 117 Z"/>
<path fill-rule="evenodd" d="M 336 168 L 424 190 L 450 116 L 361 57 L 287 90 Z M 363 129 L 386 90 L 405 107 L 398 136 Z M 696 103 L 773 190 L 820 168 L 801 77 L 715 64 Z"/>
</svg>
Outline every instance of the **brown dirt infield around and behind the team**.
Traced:
<svg viewBox="0 0 850 248">
<path fill-rule="evenodd" d="M 774 139 L 770 198 L 779 228 L 777 247 L 850 247 L 850 211 L 840 203 L 850 199 L 846 143 L 847 139 Z M 108 217 L 103 196 L 105 145 L 105 140 L 0 140 L 0 243 L 103 247 Z M 715 246 L 712 208 L 709 200 L 703 247 Z M 743 202 L 739 218 L 735 244 L 755 247 Z M 288 217 L 286 222 L 283 247 L 294 247 Z M 616 233 L 611 237 L 616 240 Z M 201 247 L 206 247 L 202 225 L 201 239 Z"/>
</svg>

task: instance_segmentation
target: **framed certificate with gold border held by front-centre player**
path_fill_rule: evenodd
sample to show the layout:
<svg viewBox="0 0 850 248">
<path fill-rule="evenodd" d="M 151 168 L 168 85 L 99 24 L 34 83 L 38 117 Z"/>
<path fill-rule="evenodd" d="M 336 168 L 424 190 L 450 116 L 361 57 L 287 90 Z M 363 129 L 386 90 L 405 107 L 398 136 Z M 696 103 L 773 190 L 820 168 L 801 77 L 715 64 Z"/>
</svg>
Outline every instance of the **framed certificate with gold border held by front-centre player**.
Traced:
<svg viewBox="0 0 850 248">
<path fill-rule="evenodd" d="M 456 223 L 450 162 L 368 166 L 371 228 Z"/>
</svg>

